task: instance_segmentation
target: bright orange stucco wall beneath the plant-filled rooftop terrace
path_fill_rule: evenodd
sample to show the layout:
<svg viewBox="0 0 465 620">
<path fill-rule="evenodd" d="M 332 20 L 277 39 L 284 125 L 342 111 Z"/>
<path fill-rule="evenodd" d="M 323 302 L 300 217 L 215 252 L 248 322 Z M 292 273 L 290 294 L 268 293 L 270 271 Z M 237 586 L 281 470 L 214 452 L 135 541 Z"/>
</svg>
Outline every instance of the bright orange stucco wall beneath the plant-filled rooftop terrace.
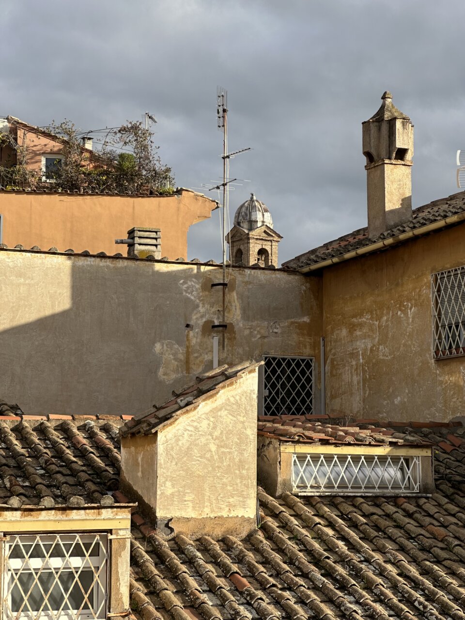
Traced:
<svg viewBox="0 0 465 620">
<path fill-rule="evenodd" d="M 187 231 L 211 217 L 215 202 L 184 190 L 173 196 L 107 196 L 68 193 L 0 192 L 3 242 L 9 247 L 57 247 L 127 254 L 115 245 L 134 226 L 161 229 L 161 252 L 187 259 Z"/>
</svg>

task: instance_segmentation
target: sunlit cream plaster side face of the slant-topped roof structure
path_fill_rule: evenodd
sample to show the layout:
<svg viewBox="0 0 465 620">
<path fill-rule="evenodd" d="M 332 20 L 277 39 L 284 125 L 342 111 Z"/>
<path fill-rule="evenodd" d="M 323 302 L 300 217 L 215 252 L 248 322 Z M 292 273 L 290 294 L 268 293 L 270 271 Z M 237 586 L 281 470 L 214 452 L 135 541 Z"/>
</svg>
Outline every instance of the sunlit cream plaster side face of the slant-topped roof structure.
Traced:
<svg viewBox="0 0 465 620">
<path fill-rule="evenodd" d="M 255 518 L 258 368 L 158 433 L 157 517 Z"/>
</svg>

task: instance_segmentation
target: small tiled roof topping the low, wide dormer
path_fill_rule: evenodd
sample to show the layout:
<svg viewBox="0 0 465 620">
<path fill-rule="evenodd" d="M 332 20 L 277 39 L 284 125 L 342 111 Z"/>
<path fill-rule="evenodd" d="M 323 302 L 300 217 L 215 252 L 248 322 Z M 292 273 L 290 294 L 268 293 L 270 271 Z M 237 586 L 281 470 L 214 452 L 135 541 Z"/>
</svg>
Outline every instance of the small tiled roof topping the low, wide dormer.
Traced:
<svg viewBox="0 0 465 620">
<path fill-rule="evenodd" d="M 338 420 L 334 420 L 338 422 Z M 328 415 L 283 415 L 259 417 L 258 433 L 280 441 L 299 443 L 343 443 L 370 445 L 431 445 L 422 438 L 409 433 L 396 432 L 373 422 L 377 420 L 354 420 L 332 423 Z"/>
</svg>

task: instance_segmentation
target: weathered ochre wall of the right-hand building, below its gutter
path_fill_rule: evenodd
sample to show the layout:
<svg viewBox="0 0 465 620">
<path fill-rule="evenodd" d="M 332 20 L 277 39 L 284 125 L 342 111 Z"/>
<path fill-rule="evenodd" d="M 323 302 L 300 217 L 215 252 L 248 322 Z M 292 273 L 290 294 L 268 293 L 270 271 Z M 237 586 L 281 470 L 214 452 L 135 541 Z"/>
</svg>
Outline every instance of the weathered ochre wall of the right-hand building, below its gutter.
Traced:
<svg viewBox="0 0 465 620">
<path fill-rule="evenodd" d="M 464 226 L 327 268 L 327 412 L 381 420 L 464 415 L 465 357 L 433 360 L 432 273 L 465 263 Z"/>
</svg>

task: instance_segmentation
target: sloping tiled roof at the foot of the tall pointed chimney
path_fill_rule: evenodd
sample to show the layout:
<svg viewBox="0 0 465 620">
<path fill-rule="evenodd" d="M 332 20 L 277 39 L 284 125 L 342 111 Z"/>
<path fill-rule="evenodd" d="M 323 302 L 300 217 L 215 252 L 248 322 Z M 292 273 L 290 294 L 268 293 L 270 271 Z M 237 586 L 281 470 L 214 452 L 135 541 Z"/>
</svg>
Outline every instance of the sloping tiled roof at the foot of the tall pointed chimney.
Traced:
<svg viewBox="0 0 465 620">
<path fill-rule="evenodd" d="M 396 226 L 396 228 L 391 228 L 391 230 L 381 233 L 378 237 L 370 238 L 368 236 L 368 227 L 365 226 L 365 228 L 359 228 L 356 231 L 339 237 L 339 239 L 335 239 L 334 241 L 325 243 L 308 252 L 304 252 L 304 254 L 299 254 L 294 259 L 284 262 L 283 267 L 300 269 L 302 267 L 308 267 L 308 265 L 315 265 L 324 260 L 333 259 L 342 254 L 353 252 L 353 250 L 370 246 L 384 239 L 396 237 L 402 234 L 402 232 L 412 231 L 416 228 L 433 224 L 441 219 L 458 215 L 459 213 L 463 213 L 463 211 L 465 211 L 465 193 L 458 192 L 452 194 L 448 198 L 433 200 L 427 205 L 419 206 L 412 212 L 412 219 L 409 222 L 401 226 Z"/>
</svg>

